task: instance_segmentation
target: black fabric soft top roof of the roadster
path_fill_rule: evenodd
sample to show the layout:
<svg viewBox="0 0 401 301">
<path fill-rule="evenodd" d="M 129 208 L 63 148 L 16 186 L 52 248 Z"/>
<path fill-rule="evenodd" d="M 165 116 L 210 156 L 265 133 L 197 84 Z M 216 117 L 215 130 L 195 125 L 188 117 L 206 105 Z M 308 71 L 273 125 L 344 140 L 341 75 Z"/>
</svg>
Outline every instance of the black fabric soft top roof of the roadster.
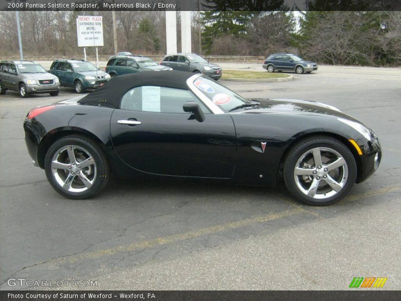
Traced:
<svg viewBox="0 0 401 301">
<path fill-rule="evenodd" d="M 113 77 L 103 87 L 86 95 L 78 103 L 118 108 L 121 98 L 132 88 L 161 86 L 187 90 L 186 80 L 192 75 L 193 73 L 190 72 L 168 70 L 119 75 Z"/>
</svg>

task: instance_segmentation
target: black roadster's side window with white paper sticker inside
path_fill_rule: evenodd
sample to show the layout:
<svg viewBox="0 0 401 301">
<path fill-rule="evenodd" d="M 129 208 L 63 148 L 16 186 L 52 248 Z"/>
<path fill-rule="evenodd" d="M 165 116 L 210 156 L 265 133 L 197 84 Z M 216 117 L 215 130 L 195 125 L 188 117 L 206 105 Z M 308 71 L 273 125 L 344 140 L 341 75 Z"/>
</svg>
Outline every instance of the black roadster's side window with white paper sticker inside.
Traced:
<svg viewBox="0 0 401 301">
<path fill-rule="evenodd" d="M 142 86 L 129 90 L 121 99 L 124 110 L 188 114 L 182 109 L 186 101 L 195 101 L 205 114 L 208 108 L 188 90 L 158 86 Z"/>
</svg>

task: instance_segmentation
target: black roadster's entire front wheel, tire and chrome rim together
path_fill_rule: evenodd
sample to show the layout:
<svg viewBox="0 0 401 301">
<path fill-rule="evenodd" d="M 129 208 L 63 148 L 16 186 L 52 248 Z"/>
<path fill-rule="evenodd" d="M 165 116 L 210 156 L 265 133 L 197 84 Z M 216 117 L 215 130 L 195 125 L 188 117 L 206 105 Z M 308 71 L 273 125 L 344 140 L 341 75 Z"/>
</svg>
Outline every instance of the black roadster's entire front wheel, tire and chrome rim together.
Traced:
<svg viewBox="0 0 401 301">
<path fill-rule="evenodd" d="M 333 162 L 337 164 L 331 165 Z M 356 173 L 355 158 L 348 147 L 337 139 L 320 135 L 296 143 L 288 152 L 283 170 L 291 194 L 314 206 L 334 204 L 345 197 L 355 183 Z"/>
</svg>

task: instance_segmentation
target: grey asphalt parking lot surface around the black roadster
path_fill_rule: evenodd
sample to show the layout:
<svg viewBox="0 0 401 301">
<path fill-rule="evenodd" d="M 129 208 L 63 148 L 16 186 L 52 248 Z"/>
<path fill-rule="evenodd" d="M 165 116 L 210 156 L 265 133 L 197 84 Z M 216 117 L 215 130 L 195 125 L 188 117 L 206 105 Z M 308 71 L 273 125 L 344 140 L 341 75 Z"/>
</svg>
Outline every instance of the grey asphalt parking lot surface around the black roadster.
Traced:
<svg viewBox="0 0 401 301">
<path fill-rule="evenodd" d="M 333 206 L 305 206 L 284 186 L 177 182 L 112 181 L 94 199 L 66 199 L 32 165 L 22 123 L 32 107 L 73 89 L 1 95 L 0 289 L 21 289 L 7 279 L 25 278 L 62 280 L 52 288 L 64 289 L 341 290 L 357 276 L 388 277 L 381 289 L 401 289 L 401 69 L 322 66 L 294 76 L 221 82 L 246 97 L 334 105 L 375 130 L 379 169 Z"/>
</svg>

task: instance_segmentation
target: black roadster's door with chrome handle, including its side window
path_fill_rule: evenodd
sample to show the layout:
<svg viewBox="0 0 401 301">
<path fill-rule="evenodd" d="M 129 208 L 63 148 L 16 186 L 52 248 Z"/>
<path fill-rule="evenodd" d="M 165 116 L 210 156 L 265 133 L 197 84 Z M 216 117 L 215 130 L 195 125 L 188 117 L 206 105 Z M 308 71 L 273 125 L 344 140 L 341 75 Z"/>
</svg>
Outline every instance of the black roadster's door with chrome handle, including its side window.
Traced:
<svg viewBox="0 0 401 301">
<path fill-rule="evenodd" d="M 205 113 L 199 122 L 182 109 L 196 101 Z M 130 124 L 133 123 L 133 124 Z M 213 114 L 188 90 L 143 86 L 129 90 L 110 119 L 118 156 L 148 174 L 231 178 L 236 133 L 228 114 Z"/>
</svg>

